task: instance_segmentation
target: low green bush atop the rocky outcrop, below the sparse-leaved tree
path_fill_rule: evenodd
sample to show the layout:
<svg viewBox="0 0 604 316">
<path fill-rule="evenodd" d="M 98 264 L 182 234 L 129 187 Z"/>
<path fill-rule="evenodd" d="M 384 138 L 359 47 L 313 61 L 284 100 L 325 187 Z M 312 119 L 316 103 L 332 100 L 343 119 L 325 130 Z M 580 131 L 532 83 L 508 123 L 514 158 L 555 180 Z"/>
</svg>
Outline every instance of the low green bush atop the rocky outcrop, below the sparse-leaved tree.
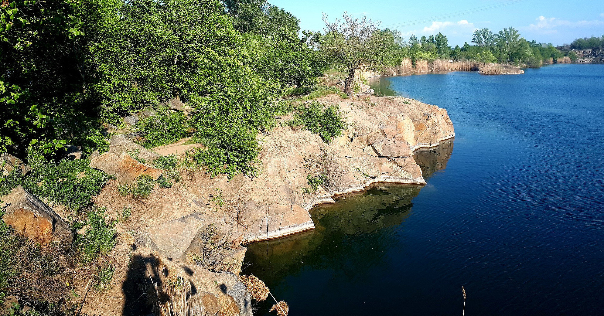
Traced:
<svg viewBox="0 0 604 316">
<path fill-rule="evenodd" d="M 342 135 L 346 127 L 343 117 L 344 113 L 340 111 L 339 106 L 325 107 L 320 102 L 298 106 L 294 113 L 294 118 L 300 119 L 308 131 L 319 134 L 326 143 Z"/>
</svg>

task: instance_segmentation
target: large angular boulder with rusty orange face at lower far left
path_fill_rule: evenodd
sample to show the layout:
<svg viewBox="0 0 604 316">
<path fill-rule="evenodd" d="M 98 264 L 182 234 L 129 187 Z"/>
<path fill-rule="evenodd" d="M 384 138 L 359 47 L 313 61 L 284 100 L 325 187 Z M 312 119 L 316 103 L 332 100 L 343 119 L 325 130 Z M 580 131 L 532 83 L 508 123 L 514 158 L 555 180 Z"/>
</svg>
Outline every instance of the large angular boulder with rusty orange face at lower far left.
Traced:
<svg viewBox="0 0 604 316">
<path fill-rule="evenodd" d="M 27 192 L 21 185 L 2 197 L 2 219 L 15 233 L 26 236 L 40 245 L 52 241 L 69 244 L 73 234 L 69 225 L 52 208 Z"/>
</svg>

